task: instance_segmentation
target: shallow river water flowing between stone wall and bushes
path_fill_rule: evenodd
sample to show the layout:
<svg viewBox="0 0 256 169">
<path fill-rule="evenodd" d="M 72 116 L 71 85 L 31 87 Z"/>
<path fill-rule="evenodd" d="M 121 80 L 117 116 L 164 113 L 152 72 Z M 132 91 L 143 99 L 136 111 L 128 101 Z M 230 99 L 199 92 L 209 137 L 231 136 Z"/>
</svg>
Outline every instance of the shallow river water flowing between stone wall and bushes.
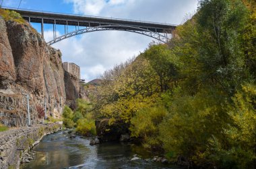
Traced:
<svg viewBox="0 0 256 169">
<path fill-rule="evenodd" d="M 130 143 L 89 143 L 89 139 L 71 139 L 62 131 L 47 135 L 33 149 L 36 158 L 21 168 L 177 168 L 148 160 L 154 155 Z M 141 160 L 131 161 L 134 154 Z"/>
</svg>

